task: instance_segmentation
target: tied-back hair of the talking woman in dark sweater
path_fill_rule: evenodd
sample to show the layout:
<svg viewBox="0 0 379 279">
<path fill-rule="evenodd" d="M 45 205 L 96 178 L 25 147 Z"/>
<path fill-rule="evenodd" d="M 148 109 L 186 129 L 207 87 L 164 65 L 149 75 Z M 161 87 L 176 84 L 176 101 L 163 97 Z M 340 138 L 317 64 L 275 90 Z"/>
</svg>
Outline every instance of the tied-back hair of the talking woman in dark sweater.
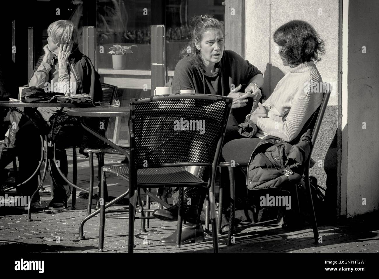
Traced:
<svg viewBox="0 0 379 279">
<path fill-rule="evenodd" d="M 202 59 L 200 57 L 200 50 L 195 46 L 195 40 L 200 42 L 203 34 L 210 29 L 219 29 L 225 38 L 224 23 L 215 19 L 213 16 L 195 16 L 192 18 L 194 28 L 191 34 L 189 43 L 180 51 L 181 57 L 189 57 L 192 65 L 200 66 Z"/>
</svg>

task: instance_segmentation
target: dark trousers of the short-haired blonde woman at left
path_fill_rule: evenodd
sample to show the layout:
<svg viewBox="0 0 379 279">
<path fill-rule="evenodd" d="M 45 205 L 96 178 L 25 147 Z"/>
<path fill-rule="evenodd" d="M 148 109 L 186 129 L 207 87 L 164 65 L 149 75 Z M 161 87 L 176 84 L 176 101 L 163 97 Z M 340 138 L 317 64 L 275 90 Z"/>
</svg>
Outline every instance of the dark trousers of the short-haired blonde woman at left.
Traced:
<svg viewBox="0 0 379 279">
<path fill-rule="evenodd" d="M 48 131 L 48 129 L 47 129 Z M 44 131 L 46 132 L 46 131 Z M 16 133 L 16 154 L 19 160 L 19 180 L 18 183 L 27 180 L 34 170 L 38 167 L 41 159 L 41 138 L 40 131 L 36 129 L 33 123 L 22 117 L 19 123 L 19 131 Z M 69 184 L 61 177 L 56 166 L 60 167 L 61 172 L 67 177 L 67 155 L 65 148 L 72 145 L 78 145 L 83 139 L 83 129 L 81 127 L 65 127 L 59 133 L 59 144 L 56 147 L 56 162 L 54 162 L 52 152 L 49 152 L 50 175 L 53 178 L 54 199 L 64 200 L 66 192 L 69 190 Z M 20 195 L 31 196 L 38 188 L 38 179 L 35 175 L 19 189 Z M 37 194 L 33 200 L 38 200 Z"/>
</svg>

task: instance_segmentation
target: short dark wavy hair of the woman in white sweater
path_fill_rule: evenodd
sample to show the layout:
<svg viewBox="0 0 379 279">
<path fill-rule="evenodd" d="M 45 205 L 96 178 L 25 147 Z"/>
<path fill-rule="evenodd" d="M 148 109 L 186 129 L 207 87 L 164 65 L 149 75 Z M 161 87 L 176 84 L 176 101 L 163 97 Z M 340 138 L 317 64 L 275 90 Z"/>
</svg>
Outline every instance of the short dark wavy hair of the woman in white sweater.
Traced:
<svg viewBox="0 0 379 279">
<path fill-rule="evenodd" d="M 325 53 L 324 41 L 315 28 L 304 20 L 291 20 L 274 32 L 274 41 L 282 48 L 280 57 L 288 64 L 320 61 Z"/>
</svg>

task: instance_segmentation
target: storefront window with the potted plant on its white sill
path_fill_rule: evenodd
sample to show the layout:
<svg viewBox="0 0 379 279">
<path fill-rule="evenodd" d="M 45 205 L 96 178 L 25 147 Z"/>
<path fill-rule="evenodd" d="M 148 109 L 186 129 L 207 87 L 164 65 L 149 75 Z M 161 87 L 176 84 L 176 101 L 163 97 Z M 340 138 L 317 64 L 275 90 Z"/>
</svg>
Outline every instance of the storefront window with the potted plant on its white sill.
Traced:
<svg viewBox="0 0 379 279">
<path fill-rule="evenodd" d="M 96 66 L 102 82 L 116 85 L 121 106 L 130 98 L 150 96 L 150 0 L 97 0 Z M 108 54 L 114 45 L 128 46 L 132 53 Z M 129 50 L 127 50 L 129 52 Z M 111 118 L 107 136 L 128 145 L 125 118 Z"/>
</svg>

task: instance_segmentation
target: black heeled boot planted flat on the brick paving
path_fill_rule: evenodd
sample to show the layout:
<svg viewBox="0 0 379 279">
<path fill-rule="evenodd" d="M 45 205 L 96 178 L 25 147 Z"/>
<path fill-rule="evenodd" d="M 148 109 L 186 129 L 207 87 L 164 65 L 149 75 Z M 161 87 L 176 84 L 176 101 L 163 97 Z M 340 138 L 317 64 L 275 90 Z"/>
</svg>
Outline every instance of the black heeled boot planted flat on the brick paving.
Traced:
<svg viewBox="0 0 379 279">
<path fill-rule="evenodd" d="M 186 243 L 200 243 L 204 241 L 204 230 L 202 224 L 183 224 L 182 237 L 180 239 L 180 245 Z M 159 241 L 162 246 L 175 246 L 176 245 L 176 231 Z"/>
</svg>

